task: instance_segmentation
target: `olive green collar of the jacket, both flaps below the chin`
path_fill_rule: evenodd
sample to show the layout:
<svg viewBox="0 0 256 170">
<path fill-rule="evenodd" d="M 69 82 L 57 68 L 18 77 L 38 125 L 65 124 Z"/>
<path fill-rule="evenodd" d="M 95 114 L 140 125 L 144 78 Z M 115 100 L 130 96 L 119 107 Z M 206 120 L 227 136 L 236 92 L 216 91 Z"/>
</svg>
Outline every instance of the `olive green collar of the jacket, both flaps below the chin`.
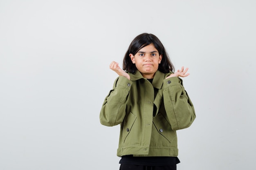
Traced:
<svg viewBox="0 0 256 170">
<path fill-rule="evenodd" d="M 141 75 L 141 73 L 138 70 L 136 70 L 136 72 L 134 74 L 129 73 L 129 75 L 130 75 L 131 81 L 136 81 L 138 79 L 146 79 Z M 162 88 L 164 75 L 165 74 L 162 73 L 161 71 L 157 70 L 157 72 L 155 72 L 154 79 L 152 82 L 153 87 L 158 88 L 158 89 Z"/>
</svg>

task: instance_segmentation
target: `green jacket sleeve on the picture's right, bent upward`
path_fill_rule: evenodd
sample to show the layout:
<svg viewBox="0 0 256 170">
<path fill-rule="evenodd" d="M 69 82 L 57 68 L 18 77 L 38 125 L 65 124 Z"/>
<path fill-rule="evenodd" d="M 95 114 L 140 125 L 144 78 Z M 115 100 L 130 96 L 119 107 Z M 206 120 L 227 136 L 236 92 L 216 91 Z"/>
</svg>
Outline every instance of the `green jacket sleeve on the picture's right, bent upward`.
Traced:
<svg viewBox="0 0 256 170">
<path fill-rule="evenodd" d="M 170 77 L 163 82 L 164 107 L 173 130 L 188 128 L 195 119 L 195 109 L 182 79 Z"/>
</svg>

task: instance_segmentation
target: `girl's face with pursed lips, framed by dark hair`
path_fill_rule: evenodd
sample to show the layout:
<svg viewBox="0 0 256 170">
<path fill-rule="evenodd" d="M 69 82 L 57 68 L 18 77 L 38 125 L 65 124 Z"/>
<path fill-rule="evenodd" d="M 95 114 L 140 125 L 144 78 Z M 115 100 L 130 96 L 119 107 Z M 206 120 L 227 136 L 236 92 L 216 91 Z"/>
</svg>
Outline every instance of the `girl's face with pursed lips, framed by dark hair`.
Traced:
<svg viewBox="0 0 256 170">
<path fill-rule="evenodd" d="M 161 63 L 162 55 L 159 55 L 153 44 L 149 44 L 135 55 L 130 54 L 130 58 L 144 78 L 152 79 Z"/>
</svg>

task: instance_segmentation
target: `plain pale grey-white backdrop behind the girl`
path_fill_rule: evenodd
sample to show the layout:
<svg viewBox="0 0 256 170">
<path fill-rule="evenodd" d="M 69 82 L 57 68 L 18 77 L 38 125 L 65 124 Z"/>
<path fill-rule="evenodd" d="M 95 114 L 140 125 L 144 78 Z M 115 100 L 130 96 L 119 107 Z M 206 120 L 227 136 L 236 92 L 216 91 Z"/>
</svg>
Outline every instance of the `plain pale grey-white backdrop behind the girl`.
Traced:
<svg viewBox="0 0 256 170">
<path fill-rule="evenodd" d="M 153 33 L 197 118 L 178 170 L 254 170 L 255 0 L 0 0 L 0 170 L 118 170 L 99 122 L 130 42 Z"/>
</svg>

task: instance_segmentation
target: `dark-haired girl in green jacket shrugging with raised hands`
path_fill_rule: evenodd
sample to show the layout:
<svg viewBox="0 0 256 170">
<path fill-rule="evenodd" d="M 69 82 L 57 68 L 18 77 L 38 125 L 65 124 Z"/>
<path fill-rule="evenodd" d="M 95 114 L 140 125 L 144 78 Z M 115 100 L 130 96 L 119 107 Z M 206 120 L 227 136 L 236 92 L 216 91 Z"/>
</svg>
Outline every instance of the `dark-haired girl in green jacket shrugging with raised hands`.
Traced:
<svg viewBox="0 0 256 170">
<path fill-rule="evenodd" d="M 123 61 L 110 69 L 119 77 L 103 102 L 100 122 L 120 124 L 117 156 L 120 170 L 176 170 L 176 130 L 195 119 L 193 104 L 182 79 L 188 68 L 174 73 L 163 44 L 153 34 L 138 35 Z"/>
</svg>

